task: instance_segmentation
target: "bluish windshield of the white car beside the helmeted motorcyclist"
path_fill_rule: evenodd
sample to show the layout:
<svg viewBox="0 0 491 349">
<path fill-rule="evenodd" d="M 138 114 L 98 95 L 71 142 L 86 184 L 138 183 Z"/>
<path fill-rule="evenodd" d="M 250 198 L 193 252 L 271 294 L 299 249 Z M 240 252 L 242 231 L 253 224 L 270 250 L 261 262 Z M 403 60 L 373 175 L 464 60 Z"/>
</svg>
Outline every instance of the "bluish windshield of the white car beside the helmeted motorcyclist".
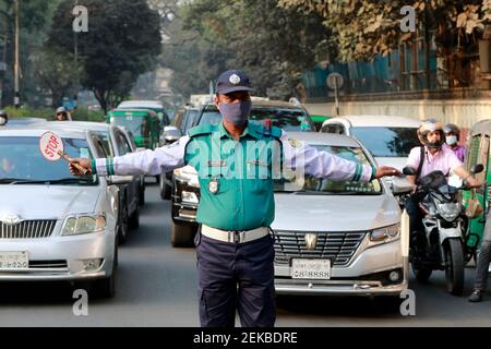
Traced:
<svg viewBox="0 0 491 349">
<path fill-rule="evenodd" d="M 416 128 L 351 128 L 374 157 L 407 157 L 420 145 Z"/>
</svg>

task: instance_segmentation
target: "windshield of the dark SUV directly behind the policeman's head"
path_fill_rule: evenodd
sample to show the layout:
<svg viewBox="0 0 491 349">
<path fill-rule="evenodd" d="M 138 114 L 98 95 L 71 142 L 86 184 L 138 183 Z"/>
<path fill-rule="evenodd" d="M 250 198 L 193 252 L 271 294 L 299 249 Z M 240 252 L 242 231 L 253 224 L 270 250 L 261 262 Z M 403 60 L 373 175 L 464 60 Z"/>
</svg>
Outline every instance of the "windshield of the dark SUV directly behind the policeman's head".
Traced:
<svg viewBox="0 0 491 349">
<path fill-rule="evenodd" d="M 271 107 L 252 107 L 249 120 L 262 123 L 271 119 L 274 127 L 285 131 L 315 131 L 309 116 L 301 109 L 284 109 Z M 217 110 L 206 109 L 200 120 L 200 124 L 214 124 L 221 121 L 221 115 Z"/>
</svg>

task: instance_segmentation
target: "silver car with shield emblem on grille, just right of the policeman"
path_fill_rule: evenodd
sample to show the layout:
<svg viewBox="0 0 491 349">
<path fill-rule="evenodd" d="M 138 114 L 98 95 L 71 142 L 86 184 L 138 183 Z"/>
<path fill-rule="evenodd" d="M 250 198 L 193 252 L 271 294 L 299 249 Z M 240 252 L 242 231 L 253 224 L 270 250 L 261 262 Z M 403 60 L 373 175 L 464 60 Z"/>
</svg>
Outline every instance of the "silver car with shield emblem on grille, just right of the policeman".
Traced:
<svg viewBox="0 0 491 349">
<path fill-rule="evenodd" d="M 349 136 L 303 132 L 289 136 L 350 160 L 375 164 Z M 400 209 L 383 181 L 283 179 L 275 183 L 275 202 L 278 294 L 396 296 L 407 288 Z"/>
</svg>

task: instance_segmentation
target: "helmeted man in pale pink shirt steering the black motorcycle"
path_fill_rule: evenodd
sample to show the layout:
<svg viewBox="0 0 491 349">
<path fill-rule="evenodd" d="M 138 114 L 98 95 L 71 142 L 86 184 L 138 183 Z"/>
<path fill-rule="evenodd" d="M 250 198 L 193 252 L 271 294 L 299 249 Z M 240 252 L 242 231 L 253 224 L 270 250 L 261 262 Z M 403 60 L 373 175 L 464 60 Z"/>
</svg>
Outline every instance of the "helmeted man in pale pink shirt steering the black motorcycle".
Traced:
<svg viewBox="0 0 491 349">
<path fill-rule="evenodd" d="M 406 164 L 407 167 L 412 167 L 417 170 L 415 176 L 407 176 L 410 183 L 416 185 L 419 179 L 440 170 L 445 176 L 448 176 L 451 171 L 457 174 L 467 183 L 468 188 L 481 185 L 464 168 L 463 163 L 457 158 L 455 153 L 443 143 L 444 132 L 440 122 L 436 120 L 424 121 L 418 129 L 418 137 L 421 146 L 411 149 Z M 422 198 L 420 195 L 414 193 L 405 202 L 406 210 L 409 215 L 409 229 L 412 236 L 414 231 L 419 231 L 421 227 L 423 217 L 419 208 L 419 203 Z"/>
</svg>

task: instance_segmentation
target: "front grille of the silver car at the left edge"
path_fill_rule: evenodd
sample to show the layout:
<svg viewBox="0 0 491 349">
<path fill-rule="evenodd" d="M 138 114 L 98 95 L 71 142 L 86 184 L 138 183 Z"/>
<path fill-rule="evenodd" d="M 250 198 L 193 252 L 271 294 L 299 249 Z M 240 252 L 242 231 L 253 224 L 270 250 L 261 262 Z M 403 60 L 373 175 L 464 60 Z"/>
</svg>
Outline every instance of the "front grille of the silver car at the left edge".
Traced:
<svg viewBox="0 0 491 349">
<path fill-rule="evenodd" d="M 55 230 L 56 220 L 24 220 L 16 225 L 0 221 L 0 239 L 43 239 Z"/>
</svg>

